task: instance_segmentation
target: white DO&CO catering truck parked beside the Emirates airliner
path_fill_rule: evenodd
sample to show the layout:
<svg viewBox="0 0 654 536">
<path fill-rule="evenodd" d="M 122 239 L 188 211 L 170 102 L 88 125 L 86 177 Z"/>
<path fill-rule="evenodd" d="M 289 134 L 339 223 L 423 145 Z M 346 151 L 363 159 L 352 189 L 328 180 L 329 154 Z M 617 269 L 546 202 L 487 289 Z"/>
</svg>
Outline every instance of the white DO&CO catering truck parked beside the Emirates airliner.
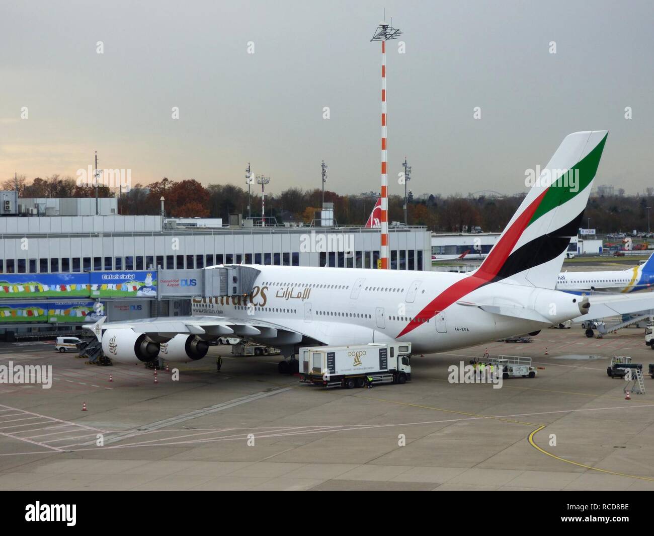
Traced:
<svg viewBox="0 0 654 536">
<path fill-rule="evenodd" d="M 411 343 L 300 348 L 300 381 L 323 387 L 404 384 L 411 380 Z"/>
</svg>

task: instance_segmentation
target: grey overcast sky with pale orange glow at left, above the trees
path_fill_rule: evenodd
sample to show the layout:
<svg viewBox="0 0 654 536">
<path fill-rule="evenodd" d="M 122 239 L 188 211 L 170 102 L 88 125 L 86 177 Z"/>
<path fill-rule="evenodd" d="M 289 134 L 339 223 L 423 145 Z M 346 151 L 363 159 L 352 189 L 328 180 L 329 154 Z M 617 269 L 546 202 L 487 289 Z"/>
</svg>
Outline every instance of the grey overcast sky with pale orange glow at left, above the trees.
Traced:
<svg viewBox="0 0 654 536">
<path fill-rule="evenodd" d="M 379 190 L 370 38 L 385 7 L 405 42 L 387 54 L 390 194 L 404 156 L 414 194 L 523 191 L 566 134 L 600 129 L 596 184 L 642 192 L 654 186 L 653 6 L 3 0 L 0 179 L 75 176 L 97 150 L 99 168 L 130 169 L 133 184 L 245 185 L 251 162 L 272 192 L 319 188 L 324 158 L 329 189 Z"/>
</svg>

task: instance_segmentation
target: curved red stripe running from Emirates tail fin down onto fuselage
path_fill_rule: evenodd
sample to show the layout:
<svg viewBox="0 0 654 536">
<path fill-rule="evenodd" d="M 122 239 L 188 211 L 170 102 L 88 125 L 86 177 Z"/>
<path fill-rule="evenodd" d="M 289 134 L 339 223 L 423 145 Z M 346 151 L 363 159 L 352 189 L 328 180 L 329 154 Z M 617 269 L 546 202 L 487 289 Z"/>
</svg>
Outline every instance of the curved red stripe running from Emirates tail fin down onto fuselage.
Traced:
<svg viewBox="0 0 654 536">
<path fill-rule="evenodd" d="M 511 255 L 513 247 L 515 247 L 515 244 L 536 212 L 538 205 L 540 205 L 543 197 L 545 197 L 545 192 L 547 192 L 546 189 L 543 190 L 543 192 L 534 199 L 532 204 L 526 207 L 525 211 L 515 219 L 504 235 L 502 235 L 502 238 L 500 238 L 498 243 L 495 244 L 495 247 L 492 248 L 488 257 L 486 257 L 484 262 L 481 263 L 479 270 L 472 274 L 472 276 L 456 281 L 456 283 L 447 287 L 445 291 L 436 296 L 436 298 L 419 312 L 395 338 L 400 338 L 409 331 L 413 331 L 419 325 L 422 325 L 424 319 L 430 319 L 436 316 L 439 312 L 445 310 L 445 308 L 451 306 L 451 304 L 460 300 L 463 296 L 470 294 L 472 291 L 481 287 L 484 283 L 493 279 L 500 271 L 500 268 L 504 266 L 509 255 Z"/>
</svg>

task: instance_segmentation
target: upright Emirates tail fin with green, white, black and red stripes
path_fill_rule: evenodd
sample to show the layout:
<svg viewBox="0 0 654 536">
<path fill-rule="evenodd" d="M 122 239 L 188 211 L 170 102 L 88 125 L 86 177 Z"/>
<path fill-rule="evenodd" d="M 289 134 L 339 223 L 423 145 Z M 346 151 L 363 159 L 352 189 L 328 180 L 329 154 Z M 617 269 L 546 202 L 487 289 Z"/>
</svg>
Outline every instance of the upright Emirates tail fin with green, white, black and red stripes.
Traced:
<svg viewBox="0 0 654 536">
<path fill-rule="evenodd" d="M 525 173 L 531 188 L 475 277 L 555 288 L 570 238 L 581 224 L 607 135 L 606 130 L 570 134 L 543 170 Z"/>
</svg>

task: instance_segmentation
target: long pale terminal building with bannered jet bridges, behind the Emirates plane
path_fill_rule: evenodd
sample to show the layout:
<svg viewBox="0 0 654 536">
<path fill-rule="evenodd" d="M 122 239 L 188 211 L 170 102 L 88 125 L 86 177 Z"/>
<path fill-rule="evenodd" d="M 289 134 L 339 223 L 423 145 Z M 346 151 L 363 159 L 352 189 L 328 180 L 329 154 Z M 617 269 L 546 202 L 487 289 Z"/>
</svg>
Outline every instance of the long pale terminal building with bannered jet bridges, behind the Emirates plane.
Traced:
<svg viewBox="0 0 654 536">
<path fill-rule="evenodd" d="M 50 206 L 61 213 L 65 204 Z M 0 217 L 0 340 L 78 331 L 100 315 L 108 321 L 188 315 L 190 298 L 202 294 L 205 266 L 377 268 L 379 260 L 379 229 L 202 223 L 171 225 L 160 216 Z M 394 227 L 389 240 L 392 269 L 431 269 L 425 227 Z"/>
</svg>

